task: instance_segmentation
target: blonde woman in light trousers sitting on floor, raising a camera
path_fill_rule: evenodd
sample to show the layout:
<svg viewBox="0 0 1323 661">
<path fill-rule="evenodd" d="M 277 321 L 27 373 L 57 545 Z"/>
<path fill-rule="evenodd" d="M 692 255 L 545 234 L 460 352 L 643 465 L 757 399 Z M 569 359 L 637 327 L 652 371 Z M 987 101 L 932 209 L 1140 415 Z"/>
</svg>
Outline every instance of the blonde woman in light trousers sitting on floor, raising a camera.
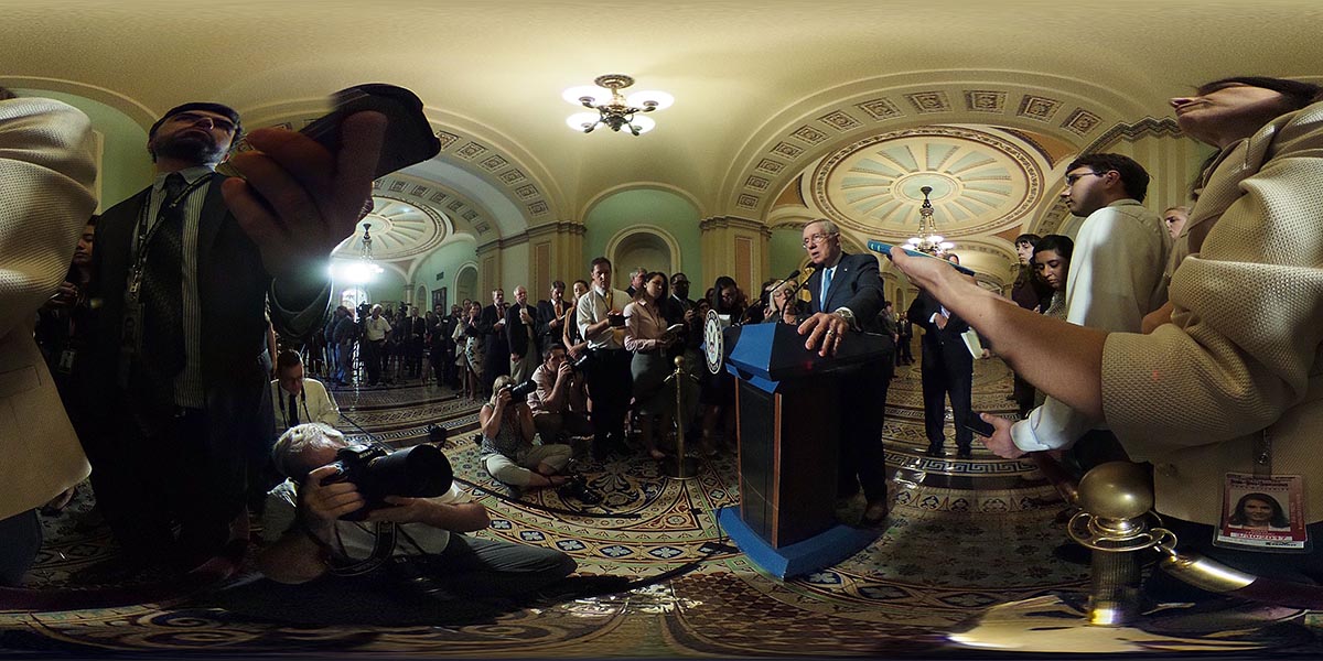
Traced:
<svg viewBox="0 0 1323 661">
<path fill-rule="evenodd" d="M 560 486 L 557 475 L 570 460 L 570 447 L 561 443 L 533 444 L 533 411 L 528 407 L 532 382 L 515 386 L 497 377 L 491 402 L 478 412 L 483 432 L 483 465 L 501 484 L 511 486 Z"/>
</svg>

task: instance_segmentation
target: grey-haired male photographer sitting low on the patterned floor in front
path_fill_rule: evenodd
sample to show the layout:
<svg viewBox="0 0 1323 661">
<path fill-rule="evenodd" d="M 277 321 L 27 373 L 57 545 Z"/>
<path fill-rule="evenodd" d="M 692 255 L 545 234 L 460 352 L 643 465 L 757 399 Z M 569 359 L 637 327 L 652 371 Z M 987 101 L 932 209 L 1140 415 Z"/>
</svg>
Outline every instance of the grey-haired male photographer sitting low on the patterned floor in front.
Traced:
<svg viewBox="0 0 1323 661">
<path fill-rule="evenodd" d="M 372 471 L 336 461 L 348 447 L 344 435 L 320 423 L 299 424 L 277 440 L 271 459 L 288 479 L 267 494 L 263 537 L 269 545 L 257 555 L 257 567 L 273 580 L 359 575 L 389 561 L 401 578 L 425 584 L 431 596 L 505 598 L 538 591 L 574 571 L 574 561 L 554 549 L 458 534 L 482 530 L 490 520 L 487 508 L 454 484 L 438 497 L 385 496 L 380 506 L 372 506 L 349 481 Z M 341 473 L 349 480 L 333 481 Z M 445 473 L 443 483 L 448 483 Z M 415 477 L 405 481 L 411 485 Z M 369 508 L 365 516 L 364 508 Z"/>
</svg>

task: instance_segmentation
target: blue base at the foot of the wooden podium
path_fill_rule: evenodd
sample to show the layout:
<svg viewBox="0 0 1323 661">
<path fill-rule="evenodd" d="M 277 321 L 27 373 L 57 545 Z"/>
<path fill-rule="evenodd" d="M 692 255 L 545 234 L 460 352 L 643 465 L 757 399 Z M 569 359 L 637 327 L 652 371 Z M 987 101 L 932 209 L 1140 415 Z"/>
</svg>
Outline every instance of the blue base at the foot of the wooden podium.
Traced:
<svg viewBox="0 0 1323 661">
<path fill-rule="evenodd" d="M 831 567 L 873 543 L 881 534 L 880 530 L 839 524 L 802 542 L 773 549 L 740 518 L 738 505 L 718 509 L 717 522 L 749 559 L 781 579 Z"/>
</svg>

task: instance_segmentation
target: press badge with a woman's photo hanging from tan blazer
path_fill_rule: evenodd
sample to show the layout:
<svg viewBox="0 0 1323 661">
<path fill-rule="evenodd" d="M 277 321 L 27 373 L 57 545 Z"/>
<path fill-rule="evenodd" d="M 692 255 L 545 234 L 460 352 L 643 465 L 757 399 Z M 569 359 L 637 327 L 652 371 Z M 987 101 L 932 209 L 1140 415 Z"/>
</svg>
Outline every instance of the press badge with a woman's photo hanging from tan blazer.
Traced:
<svg viewBox="0 0 1323 661">
<path fill-rule="evenodd" d="M 1213 545 L 1245 551 L 1307 553 L 1304 480 L 1298 475 L 1226 473 Z"/>
</svg>

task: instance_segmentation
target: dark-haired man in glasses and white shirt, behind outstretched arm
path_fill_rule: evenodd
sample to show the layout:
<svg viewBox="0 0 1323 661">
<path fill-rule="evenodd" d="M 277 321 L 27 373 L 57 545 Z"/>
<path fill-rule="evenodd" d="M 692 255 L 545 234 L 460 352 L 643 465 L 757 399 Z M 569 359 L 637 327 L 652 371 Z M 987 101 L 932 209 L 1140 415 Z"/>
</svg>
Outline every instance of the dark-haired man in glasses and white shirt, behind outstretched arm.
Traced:
<svg viewBox="0 0 1323 661">
<path fill-rule="evenodd" d="M 1066 320 L 1138 333 L 1144 315 L 1167 300 L 1163 268 L 1171 251 L 1163 219 L 1142 205 L 1148 173 L 1130 157 L 1090 153 L 1076 159 L 1065 178 L 1061 198 L 1070 213 L 1086 217 L 1066 276 Z M 1085 471 L 1125 459 L 1099 420 L 1050 397 L 1011 427 L 1011 438 L 1027 452 L 1070 447 L 1086 439 L 1076 448 Z"/>
</svg>

